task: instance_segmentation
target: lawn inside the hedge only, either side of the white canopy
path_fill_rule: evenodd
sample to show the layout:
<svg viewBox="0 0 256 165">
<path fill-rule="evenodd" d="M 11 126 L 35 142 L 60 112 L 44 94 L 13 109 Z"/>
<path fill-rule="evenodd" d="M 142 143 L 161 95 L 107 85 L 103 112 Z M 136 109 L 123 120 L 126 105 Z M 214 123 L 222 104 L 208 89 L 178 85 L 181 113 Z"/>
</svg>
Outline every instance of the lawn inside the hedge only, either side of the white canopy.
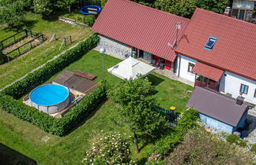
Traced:
<svg viewBox="0 0 256 165">
<path fill-rule="evenodd" d="M 122 81 L 122 79 L 119 79 L 115 75 L 111 75 L 109 72 L 107 72 L 107 68 L 111 68 L 115 64 L 118 64 L 120 61 L 121 60 L 116 59 L 115 57 L 104 55 L 105 79 L 107 79 L 107 81 L 111 84 L 120 82 Z M 81 70 L 83 72 L 92 73 L 98 76 L 95 81 L 100 82 L 103 75 L 101 54 L 97 51 L 92 50 L 80 60 L 76 61 L 73 64 L 70 64 L 70 66 L 68 66 L 64 70 L 68 70 L 71 72 Z M 54 77 L 52 77 L 51 79 L 53 79 Z M 184 108 L 185 103 L 189 98 L 189 95 L 186 94 L 186 90 L 192 90 L 193 88 L 191 86 L 187 86 L 184 83 L 168 79 L 163 75 L 159 75 L 155 72 L 148 75 L 147 77 L 150 81 L 152 81 L 152 84 L 156 86 L 156 90 L 158 92 L 155 94 L 155 97 L 156 101 L 158 101 L 158 104 L 161 107 L 170 108 L 171 106 L 175 106 L 178 111 Z"/>
</svg>

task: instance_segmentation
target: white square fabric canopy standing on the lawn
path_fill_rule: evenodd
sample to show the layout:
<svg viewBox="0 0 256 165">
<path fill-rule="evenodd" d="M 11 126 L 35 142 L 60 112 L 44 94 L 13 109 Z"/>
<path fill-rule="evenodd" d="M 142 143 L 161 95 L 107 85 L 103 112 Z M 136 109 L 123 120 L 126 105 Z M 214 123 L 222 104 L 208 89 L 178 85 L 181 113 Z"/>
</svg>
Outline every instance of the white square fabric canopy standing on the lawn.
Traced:
<svg viewBox="0 0 256 165">
<path fill-rule="evenodd" d="M 110 72 L 120 79 L 136 79 L 137 75 L 149 75 L 154 69 L 155 68 L 149 64 L 129 57 L 125 61 L 107 69 L 107 72 Z"/>
</svg>

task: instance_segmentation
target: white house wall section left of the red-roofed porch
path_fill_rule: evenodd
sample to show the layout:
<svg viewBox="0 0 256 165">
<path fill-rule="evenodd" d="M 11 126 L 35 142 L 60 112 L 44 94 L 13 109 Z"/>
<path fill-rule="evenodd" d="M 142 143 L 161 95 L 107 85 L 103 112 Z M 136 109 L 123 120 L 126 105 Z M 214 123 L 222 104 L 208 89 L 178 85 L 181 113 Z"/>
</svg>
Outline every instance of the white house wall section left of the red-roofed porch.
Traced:
<svg viewBox="0 0 256 165">
<path fill-rule="evenodd" d="M 179 60 L 180 60 L 180 63 L 179 63 Z M 194 83 L 195 75 L 193 73 L 187 72 L 187 69 L 188 69 L 189 63 L 196 64 L 196 62 L 197 61 L 192 58 L 180 55 L 180 57 L 178 57 L 177 64 L 176 64 L 177 66 L 176 75 L 179 74 L 179 77 L 182 77 Z M 179 68 L 179 64 L 180 64 L 180 68 Z"/>
</svg>

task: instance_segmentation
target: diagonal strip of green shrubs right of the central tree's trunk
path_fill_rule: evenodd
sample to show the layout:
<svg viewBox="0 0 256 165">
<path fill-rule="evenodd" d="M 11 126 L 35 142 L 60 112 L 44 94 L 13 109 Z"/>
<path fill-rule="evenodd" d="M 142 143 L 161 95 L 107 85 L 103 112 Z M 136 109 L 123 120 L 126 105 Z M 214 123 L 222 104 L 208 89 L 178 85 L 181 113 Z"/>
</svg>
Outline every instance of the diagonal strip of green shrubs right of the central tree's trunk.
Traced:
<svg viewBox="0 0 256 165">
<path fill-rule="evenodd" d="M 166 132 L 165 136 L 160 138 L 152 148 L 152 152 L 160 154 L 161 156 L 167 155 L 175 145 L 183 140 L 183 135 L 191 127 L 197 126 L 198 112 L 193 109 L 183 112 L 182 117 L 179 119 L 178 125 Z"/>
</svg>

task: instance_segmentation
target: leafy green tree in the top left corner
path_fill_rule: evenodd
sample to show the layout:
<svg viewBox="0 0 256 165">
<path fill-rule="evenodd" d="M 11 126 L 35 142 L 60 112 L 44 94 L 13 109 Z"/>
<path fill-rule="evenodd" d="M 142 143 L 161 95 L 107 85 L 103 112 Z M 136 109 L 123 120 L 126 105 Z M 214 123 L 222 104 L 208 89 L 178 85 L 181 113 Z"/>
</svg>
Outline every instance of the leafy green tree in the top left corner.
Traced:
<svg viewBox="0 0 256 165">
<path fill-rule="evenodd" d="M 24 2 L 21 0 L 0 1 L 0 24 L 9 27 L 20 24 L 24 20 Z"/>
</svg>

